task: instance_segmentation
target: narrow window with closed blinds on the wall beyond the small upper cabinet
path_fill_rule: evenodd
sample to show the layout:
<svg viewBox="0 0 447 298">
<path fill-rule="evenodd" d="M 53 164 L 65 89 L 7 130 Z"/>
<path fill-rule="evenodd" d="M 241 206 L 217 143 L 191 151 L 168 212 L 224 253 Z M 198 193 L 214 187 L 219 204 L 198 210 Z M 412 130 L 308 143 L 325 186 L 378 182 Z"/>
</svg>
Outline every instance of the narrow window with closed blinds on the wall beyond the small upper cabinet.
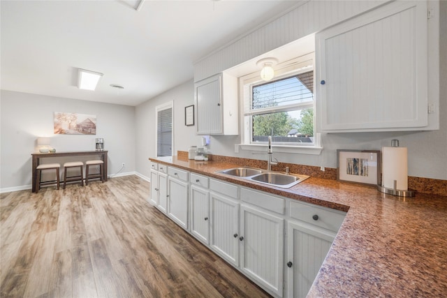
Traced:
<svg viewBox="0 0 447 298">
<path fill-rule="evenodd" d="M 156 124 L 156 156 L 172 156 L 173 154 L 173 108 L 157 112 Z"/>
</svg>

